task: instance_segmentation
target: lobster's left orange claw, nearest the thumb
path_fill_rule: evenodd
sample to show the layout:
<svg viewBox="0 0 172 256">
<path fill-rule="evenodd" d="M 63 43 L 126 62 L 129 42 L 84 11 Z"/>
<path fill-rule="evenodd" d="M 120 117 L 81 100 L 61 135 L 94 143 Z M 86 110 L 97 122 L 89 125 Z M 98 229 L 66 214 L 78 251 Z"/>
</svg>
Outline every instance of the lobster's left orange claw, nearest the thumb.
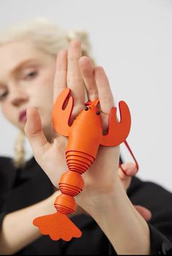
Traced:
<svg viewBox="0 0 172 256">
<path fill-rule="evenodd" d="M 52 108 L 52 125 L 58 134 L 66 137 L 69 135 L 69 120 L 74 107 L 74 99 L 73 97 L 69 97 L 70 91 L 69 88 L 64 89 L 59 94 L 58 99 Z M 69 98 L 69 102 L 66 105 L 66 108 L 63 109 L 67 98 Z"/>
</svg>

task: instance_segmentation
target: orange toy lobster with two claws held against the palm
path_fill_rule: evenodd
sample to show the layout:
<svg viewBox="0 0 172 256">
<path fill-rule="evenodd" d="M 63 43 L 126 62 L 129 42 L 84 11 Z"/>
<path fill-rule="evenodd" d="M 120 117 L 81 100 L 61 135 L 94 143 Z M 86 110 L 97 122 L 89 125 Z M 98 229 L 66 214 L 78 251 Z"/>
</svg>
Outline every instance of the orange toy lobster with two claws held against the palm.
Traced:
<svg viewBox="0 0 172 256">
<path fill-rule="evenodd" d="M 90 167 L 98 153 L 98 147 L 117 146 L 122 143 L 130 132 L 130 110 L 125 102 L 120 102 L 120 118 L 117 121 L 117 108 L 113 107 L 109 116 L 109 131 L 103 135 L 100 111 L 97 108 L 98 99 L 87 102 L 84 110 L 79 113 L 73 124 L 69 126 L 74 99 L 69 97 L 70 89 L 64 89 L 52 110 L 52 124 L 56 132 L 68 136 L 66 148 L 66 162 L 69 170 L 64 173 L 59 181 L 61 195 L 55 199 L 55 214 L 45 215 L 34 219 L 34 225 L 44 235 L 49 235 L 52 240 L 62 238 L 70 241 L 79 238 L 82 233 L 79 228 L 67 217 L 76 208 L 74 197 L 84 187 L 82 173 Z M 64 103 L 69 98 L 66 108 Z"/>
</svg>

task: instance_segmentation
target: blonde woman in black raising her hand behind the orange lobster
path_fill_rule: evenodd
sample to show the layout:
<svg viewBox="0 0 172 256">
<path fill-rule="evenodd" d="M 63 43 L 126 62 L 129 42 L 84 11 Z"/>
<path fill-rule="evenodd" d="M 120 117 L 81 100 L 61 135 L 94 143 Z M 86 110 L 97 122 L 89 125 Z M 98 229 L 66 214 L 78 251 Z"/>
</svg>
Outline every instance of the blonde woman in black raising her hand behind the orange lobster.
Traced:
<svg viewBox="0 0 172 256">
<path fill-rule="evenodd" d="M 130 200 L 153 213 L 151 221 L 146 222 L 149 213 L 142 214 L 145 219 L 141 217 L 125 193 L 130 178 L 117 168 L 119 146 L 100 148 L 96 162 L 86 173 L 85 189 L 77 197 L 77 214 L 88 215 L 72 217 L 82 229 L 82 238 L 69 243 L 51 241 L 31 225 L 35 217 L 53 212 L 55 196 L 59 195 L 58 181 L 67 170 L 67 139 L 55 134 L 51 123 L 52 105 L 60 91 L 66 86 L 72 91 L 75 106 L 71 118 L 84 106 L 85 88 L 88 99 L 98 97 L 104 129 L 114 105 L 105 72 L 82 57 L 89 56 L 87 44 L 83 38 L 82 41 L 82 49 L 78 40 L 69 44 L 69 37 L 49 23 L 24 26 L 7 32 L 1 39 L 1 110 L 12 124 L 25 131 L 38 163 L 33 158 L 23 165 L 23 154 L 17 154 L 16 169 L 9 159 L 1 158 L 1 254 L 153 254 L 171 248 L 171 230 L 165 228 L 171 207 L 164 208 L 171 193 L 132 179 Z M 128 175 L 136 173 L 133 165 L 123 167 Z M 152 198 L 146 197 L 150 192 Z M 155 203 L 157 195 L 162 203 Z"/>
</svg>

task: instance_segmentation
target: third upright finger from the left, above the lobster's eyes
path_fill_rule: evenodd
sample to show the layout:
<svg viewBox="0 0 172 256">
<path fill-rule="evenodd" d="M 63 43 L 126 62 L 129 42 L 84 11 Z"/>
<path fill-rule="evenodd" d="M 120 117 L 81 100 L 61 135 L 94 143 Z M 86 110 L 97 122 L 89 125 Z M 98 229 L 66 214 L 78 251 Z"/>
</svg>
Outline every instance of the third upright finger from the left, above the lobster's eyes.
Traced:
<svg viewBox="0 0 172 256">
<path fill-rule="evenodd" d="M 92 102 L 94 99 L 98 99 L 98 89 L 95 83 L 93 64 L 88 57 L 83 56 L 79 59 L 79 67 L 85 82 L 87 99 Z"/>
</svg>

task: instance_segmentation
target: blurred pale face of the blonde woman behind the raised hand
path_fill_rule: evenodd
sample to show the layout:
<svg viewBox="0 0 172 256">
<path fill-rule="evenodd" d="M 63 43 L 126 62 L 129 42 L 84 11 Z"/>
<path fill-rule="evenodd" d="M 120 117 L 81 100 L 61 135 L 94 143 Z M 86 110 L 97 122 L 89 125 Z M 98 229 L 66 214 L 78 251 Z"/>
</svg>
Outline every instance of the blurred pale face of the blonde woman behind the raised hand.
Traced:
<svg viewBox="0 0 172 256">
<path fill-rule="evenodd" d="M 0 105 L 15 127 L 24 130 L 26 116 L 20 118 L 21 113 L 34 106 L 49 136 L 54 75 L 55 56 L 31 42 L 10 42 L 0 47 Z"/>
</svg>

